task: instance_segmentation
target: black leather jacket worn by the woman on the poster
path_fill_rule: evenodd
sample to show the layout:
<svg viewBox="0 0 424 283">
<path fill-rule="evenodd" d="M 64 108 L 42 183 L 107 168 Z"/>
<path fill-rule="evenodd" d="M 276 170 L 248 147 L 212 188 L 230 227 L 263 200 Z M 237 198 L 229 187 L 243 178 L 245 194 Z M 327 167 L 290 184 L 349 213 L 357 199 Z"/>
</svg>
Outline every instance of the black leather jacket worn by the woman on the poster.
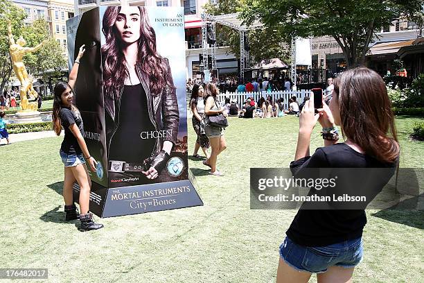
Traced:
<svg viewBox="0 0 424 283">
<path fill-rule="evenodd" d="M 170 76 L 170 80 L 173 82 L 168 59 L 164 58 L 164 60 L 167 69 L 167 74 L 164 74 L 164 76 Z M 177 94 L 175 88 L 169 87 L 168 85 L 166 85 L 159 94 L 150 93 L 148 76 L 141 71 L 141 66 L 139 64 L 136 64 L 135 69 L 137 76 L 140 78 L 141 85 L 145 90 L 145 95 L 147 96 L 149 117 L 154 125 L 154 130 L 166 130 L 167 133 L 170 133 L 170 130 L 172 130 L 172 135 L 167 134 L 165 138 L 157 137 L 150 157 L 147 160 L 140 160 L 140 162 L 150 162 L 162 150 L 164 141 L 171 141 L 173 144 L 177 141 L 179 125 Z M 122 94 L 123 86 L 119 88 L 119 92 Z M 109 155 L 112 137 L 119 126 L 121 94 L 118 96 L 118 99 L 113 99 L 106 94 L 104 95 L 107 155 Z"/>
</svg>

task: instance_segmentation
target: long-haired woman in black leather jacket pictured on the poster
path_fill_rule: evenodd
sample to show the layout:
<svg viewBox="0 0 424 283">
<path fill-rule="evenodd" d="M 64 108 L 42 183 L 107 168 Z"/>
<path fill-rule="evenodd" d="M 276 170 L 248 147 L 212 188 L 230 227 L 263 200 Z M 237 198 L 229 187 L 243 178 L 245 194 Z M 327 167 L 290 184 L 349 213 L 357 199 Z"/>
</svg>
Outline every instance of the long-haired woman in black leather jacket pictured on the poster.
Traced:
<svg viewBox="0 0 424 283">
<path fill-rule="evenodd" d="M 141 172 L 155 179 L 166 166 L 179 126 L 168 59 L 157 53 L 144 8 L 107 7 L 102 31 L 109 172 Z"/>
</svg>

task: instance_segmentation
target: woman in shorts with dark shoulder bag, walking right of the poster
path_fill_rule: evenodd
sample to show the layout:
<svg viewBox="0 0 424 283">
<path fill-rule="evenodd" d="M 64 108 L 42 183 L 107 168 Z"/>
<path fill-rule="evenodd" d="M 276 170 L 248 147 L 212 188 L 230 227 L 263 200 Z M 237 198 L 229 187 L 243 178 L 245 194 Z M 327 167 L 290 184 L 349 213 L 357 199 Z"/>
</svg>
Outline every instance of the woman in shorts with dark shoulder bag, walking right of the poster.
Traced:
<svg viewBox="0 0 424 283">
<path fill-rule="evenodd" d="M 203 164 L 211 167 L 211 171 L 209 172 L 209 174 L 215 176 L 222 176 L 224 174 L 221 171 L 218 171 L 218 169 L 216 169 L 216 160 L 218 155 L 222 153 L 225 148 L 227 148 L 227 142 L 225 141 L 224 137 L 224 129 L 217 126 L 209 125 L 209 116 L 222 114 L 224 112 L 224 108 L 218 105 L 217 95 L 218 90 L 216 89 L 215 85 L 213 85 L 212 83 L 208 83 L 206 85 L 206 91 L 204 95 L 204 132 L 206 133 L 206 136 L 211 142 L 212 151 L 209 159 L 204 160 Z M 227 113 L 224 112 L 223 114 L 224 116 L 227 116 Z"/>
</svg>

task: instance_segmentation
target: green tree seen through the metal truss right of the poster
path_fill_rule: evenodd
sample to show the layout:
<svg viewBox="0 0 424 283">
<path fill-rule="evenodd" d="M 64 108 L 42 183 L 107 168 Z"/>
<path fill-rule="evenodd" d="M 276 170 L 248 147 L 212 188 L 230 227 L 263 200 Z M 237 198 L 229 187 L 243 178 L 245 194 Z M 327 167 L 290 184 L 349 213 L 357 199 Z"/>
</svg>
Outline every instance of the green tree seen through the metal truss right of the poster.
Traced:
<svg viewBox="0 0 424 283">
<path fill-rule="evenodd" d="M 240 12 L 246 5 L 246 0 L 221 0 L 218 5 L 205 6 L 206 12 L 211 15 L 225 15 Z M 218 24 L 216 26 L 217 42 L 229 46 L 231 53 L 240 58 L 240 34 L 228 26 Z M 249 42 L 249 55 L 251 64 L 254 65 L 261 60 L 279 58 L 283 62 L 289 62 L 290 50 L 284 44 L 280 33 L 274 33 L 272 28 L 259 28 L 246 33 Z"/>
</svg>

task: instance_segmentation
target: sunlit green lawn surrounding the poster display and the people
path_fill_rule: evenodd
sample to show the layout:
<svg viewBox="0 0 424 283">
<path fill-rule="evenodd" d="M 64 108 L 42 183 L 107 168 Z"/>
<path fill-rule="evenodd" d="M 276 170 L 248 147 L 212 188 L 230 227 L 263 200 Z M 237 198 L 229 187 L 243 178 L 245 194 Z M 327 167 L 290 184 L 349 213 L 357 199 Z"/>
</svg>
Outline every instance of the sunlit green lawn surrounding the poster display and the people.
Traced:
<svg viewBox="0 0 424 283">
<path fill-rule="evenodd" d="M 422 119 L 396 121 L 403 167 L 423 167 L 424 143 L 409 139 L 415 121 Z M 218 157 L 224 177 L 189 160 L 204 206 L 98 219 L 105 228 L 96 232 L 62 221 L 62 138 L 1 146 L 0 266 L 48 268 L 48 282 L 274 282 L 278 247 L 296 211 L 249 209 L 249 168 L 288 167 L 298 119 L 229 123 L 228 149 Z M 312 152 L 322 144 L 318 131 Z M 423 211 L 367 215 L 354 282 L 422 282 Z"/>
</svg>

